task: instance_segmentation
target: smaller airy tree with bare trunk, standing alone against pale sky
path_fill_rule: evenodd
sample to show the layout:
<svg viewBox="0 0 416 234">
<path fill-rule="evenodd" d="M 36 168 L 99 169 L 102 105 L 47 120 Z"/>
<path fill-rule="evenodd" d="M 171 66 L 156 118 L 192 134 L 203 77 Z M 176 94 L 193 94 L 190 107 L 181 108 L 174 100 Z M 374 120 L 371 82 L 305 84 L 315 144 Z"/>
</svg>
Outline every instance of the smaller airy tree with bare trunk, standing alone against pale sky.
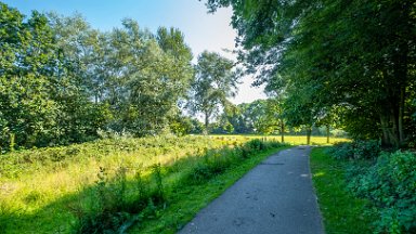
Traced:
<svg viewBox="0 0 416 234">
<path fill-rule="evenodd" d="M 209 120 L 220 107 L 229 105 L 227 98 L 235 95 L 237 75 L 234 63 L 218 53 L 204 51 L 195 67 L 195 80 L 191 86 L 190 107 L 193 113 L 203 113 L 205 131 Z"/>
</svg>

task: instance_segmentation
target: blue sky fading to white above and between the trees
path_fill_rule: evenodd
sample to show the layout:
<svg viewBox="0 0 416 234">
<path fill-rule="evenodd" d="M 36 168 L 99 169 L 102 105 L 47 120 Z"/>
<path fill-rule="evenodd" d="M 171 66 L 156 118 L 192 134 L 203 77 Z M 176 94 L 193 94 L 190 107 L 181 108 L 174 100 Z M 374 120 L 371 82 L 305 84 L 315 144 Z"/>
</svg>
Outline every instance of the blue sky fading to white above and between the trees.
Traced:
<svg viewBox="0 0 416 234">
<path fill-rule="evenodd" d="M 208 14 L 205 1 L 198 0 L 0 0 L 9 6 L 30 15 L 31 10 L 56 12 L 62 15 L 80 13 L 93 28 L 110 30 L 121 26 L 125 17 L 134 18 L 141 27 L 156 31 L 159 26 L 177 27 L 185 35 L 194 56 L 204 50 L 216 51 L 226 57 L 223 49 L 234 49 L 236 36 L 230 26 L 231 10 L 221 9 Z M 264 99 L 261 89 L 251 88 L 247 77 L 239 87 L 235 104 Z"/>
</svg>

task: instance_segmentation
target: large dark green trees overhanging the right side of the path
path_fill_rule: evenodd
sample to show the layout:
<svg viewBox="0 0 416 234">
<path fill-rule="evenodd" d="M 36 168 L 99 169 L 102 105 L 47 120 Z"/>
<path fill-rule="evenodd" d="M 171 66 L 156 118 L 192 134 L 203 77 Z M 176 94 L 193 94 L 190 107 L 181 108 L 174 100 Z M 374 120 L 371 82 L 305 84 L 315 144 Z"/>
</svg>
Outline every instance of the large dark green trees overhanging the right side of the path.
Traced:
<svg viewBox="0 0 416 234">
<path fill-rule="evenodd" d="M 239 62 L 282 98 L 291 126 L 340 126 L 386 146 L 416 139 L 413 0 L 208 0 L 232 6 Z"/>
</svg>

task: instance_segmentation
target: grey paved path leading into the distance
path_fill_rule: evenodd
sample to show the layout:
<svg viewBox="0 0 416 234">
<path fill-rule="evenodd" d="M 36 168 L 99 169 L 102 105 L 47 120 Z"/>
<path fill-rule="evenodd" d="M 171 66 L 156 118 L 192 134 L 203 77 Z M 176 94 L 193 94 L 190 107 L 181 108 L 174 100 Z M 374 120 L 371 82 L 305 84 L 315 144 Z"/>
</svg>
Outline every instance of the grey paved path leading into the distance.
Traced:
<svg viewBox="0 0 416 234">
<path fill-rule="evenodd" d="M 179 233 L 322 234 L 308 146 L 262 161 L 203 209 Z"/>
</svg>

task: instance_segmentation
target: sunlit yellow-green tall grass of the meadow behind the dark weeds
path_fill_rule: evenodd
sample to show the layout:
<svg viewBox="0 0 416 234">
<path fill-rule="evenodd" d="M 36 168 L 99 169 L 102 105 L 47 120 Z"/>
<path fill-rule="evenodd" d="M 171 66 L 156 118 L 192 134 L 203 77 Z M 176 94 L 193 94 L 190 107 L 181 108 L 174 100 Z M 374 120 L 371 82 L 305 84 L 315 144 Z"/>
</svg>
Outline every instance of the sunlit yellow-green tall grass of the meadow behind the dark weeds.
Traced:
<svg viewBox="0 0 416 234">
<path fill-rule="evenodd" d="M 96 185 L 100 168 L 106 169 L 108 179 L 126 168 L 127 180 L 134 181 L 136 171 L 147 177 L 153 165 L 174 164 L 170 169 L 174 171 L 166 178 L 166 183 L 174 184 L 208 150 L 235 147 L 249 140 L 252 138 L 198 135 L 116 139 L 2 155 L 0 227 L 6 233 L 68 232 L 75 222 L 68 210 Z"/>
</svg>

